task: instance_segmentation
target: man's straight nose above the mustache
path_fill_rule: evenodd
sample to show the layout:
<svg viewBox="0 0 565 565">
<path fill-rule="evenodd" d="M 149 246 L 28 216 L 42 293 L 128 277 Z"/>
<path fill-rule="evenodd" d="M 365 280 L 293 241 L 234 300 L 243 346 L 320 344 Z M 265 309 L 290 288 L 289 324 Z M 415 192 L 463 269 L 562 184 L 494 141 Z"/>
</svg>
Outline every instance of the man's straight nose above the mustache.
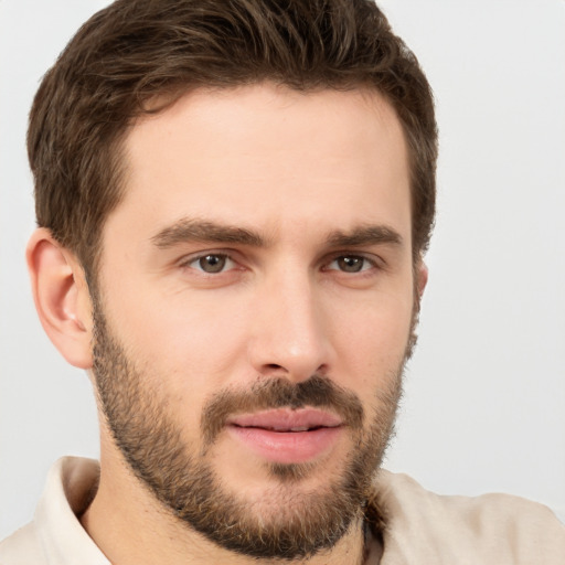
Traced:
<svg viewBox="0 0 565 565">
<path fill-rule="evenodd" d="M 300 382 L 328 373 L 332 348 L 315 277 L 284 270 L 258 292 L 248 355 L 259 375 Z"/>
</svg>

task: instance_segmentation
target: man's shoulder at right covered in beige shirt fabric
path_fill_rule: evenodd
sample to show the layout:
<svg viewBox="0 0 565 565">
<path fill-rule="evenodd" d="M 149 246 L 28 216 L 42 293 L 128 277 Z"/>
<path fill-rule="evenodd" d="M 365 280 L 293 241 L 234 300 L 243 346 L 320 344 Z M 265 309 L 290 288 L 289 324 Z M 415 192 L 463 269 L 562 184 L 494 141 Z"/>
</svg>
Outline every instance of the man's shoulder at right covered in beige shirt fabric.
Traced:
<svg viewBox="0 0 565 565">
<path fill-rule="evenodd" d="M 565 563 L 565 525 L 543 504 L 519 497 L 446 497 L 381 471 L 371 503 L 383 516 L 385 550 L 405 559 L 395 563 Z"/>
</svg>

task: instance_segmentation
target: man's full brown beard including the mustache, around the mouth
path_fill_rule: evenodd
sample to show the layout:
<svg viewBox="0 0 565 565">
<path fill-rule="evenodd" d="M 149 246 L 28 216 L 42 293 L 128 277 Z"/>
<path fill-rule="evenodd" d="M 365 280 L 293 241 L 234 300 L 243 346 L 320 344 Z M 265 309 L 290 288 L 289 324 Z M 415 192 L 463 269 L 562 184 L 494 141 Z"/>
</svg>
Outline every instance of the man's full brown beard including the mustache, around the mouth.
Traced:
<svg viewBox="0 0 565 565">
<path fill-rule="evenodd" d="M 247 390 L 225 388 L 201 414 L 196 448 L 183 439 L 182 426 L 168 412 L 163 379 L 136 366 L 113 334 L 99 302 L 94 302 L 94 375 L 102 412 L 127 465 L 162 507 L 213 543 L 256 558 L 295 559 L 331 548 L 360 524 L 372 479 L 393 435 L 402 395 L 405 359 L 376 391 L 371 414 L 359 397 L 329 377 L 299 383 L 260 379 Z M 331 409 L 350 434 L 350 450 L 339 470 L 316 489 L 301 481 L 324 472 L 316 462 L 265 462 L 273 487 L 260 500 L 228 489 L 212 465 L 213 447 L 236 413 L 306 406 Z"/>
</svg>

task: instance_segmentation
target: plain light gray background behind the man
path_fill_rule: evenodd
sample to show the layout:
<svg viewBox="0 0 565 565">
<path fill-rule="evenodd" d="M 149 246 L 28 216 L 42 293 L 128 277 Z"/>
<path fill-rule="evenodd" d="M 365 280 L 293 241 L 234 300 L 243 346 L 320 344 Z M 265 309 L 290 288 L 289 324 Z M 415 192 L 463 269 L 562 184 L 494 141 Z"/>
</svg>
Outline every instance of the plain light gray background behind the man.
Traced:
<svg viewBox="0 0 565 565">
<path fill-rule="evenodd" d="M 0 0 L 0 537 L 45 473 L 96 456 L 86 375 L 36 320 L 24 151 L 40 77 L 103 0 Z M 439 215 L 420 342 L 386 466 L 565 515 L 565 2 L 385 0 L 434 86 Z"/>
</svg>

